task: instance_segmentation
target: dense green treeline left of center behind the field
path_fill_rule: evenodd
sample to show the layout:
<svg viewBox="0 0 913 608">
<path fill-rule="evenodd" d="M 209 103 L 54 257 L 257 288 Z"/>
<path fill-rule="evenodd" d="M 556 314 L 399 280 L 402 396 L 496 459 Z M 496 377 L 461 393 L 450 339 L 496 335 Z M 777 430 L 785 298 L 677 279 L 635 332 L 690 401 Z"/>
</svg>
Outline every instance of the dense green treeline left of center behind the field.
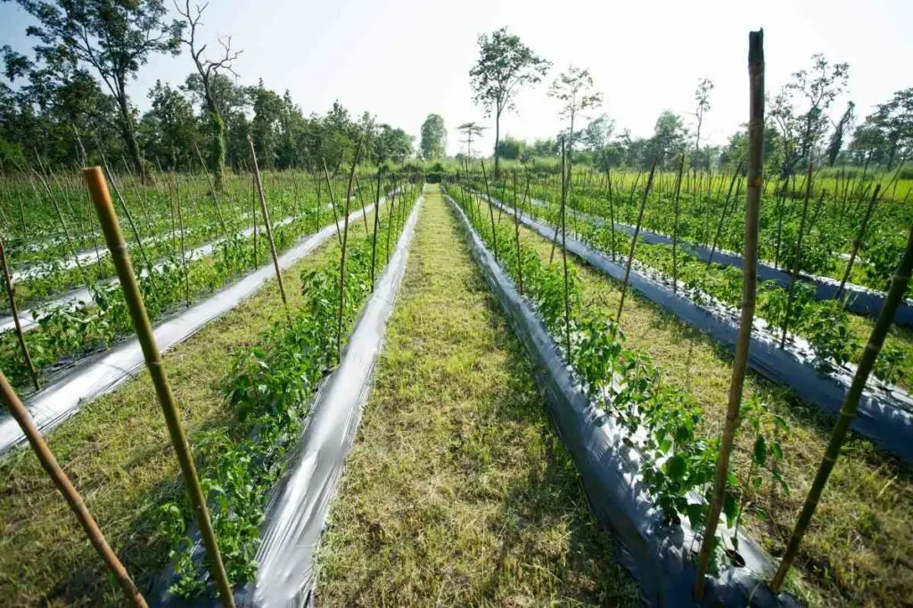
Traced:
<svg viewBox="0 0 913 608">
<path fill-rule="evenodd" d="M 261 168 L 330 170 L 362 158 L 402 163 L 413 151 L 403 129 L 353 116 L 338 102 L 306 115 L 289 91 L 239 84 L 232 67 L 241 51 L 219 40 L 215 58 L 199 42 L 205 6 L 175 5 L 170 20 L 161 0 L 17 0 L 37 19 L 26 33 L 31 52 L 3 47 L 0 80 L 0 161 L 24 168 L 36 162 L 85 166 L 101 161 L 145 171 L 190 170 L 201 161 L 221 177 L 246 166 L 247 138 Z M 27 49 L 22 49 L 27 51 Z M 184 50 L 194 71 L 180 85 L 156 82 L 151 108 L 140 113 L 128 84 L 151 57 Z"/>
</svg>

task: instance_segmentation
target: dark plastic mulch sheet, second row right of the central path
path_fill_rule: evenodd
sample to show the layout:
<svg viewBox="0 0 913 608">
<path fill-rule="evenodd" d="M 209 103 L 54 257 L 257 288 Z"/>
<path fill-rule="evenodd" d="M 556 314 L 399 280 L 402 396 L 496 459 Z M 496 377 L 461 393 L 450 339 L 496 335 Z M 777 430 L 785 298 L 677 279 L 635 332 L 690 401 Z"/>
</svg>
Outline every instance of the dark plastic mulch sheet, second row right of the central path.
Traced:
<svg viewBox="0 0 913 608">
<path fill-rule="evenodd" d="M 501 203 L 494 201 L 493 204 L 500 206 Z M 509 207 L 503 209 L 512 213 Z M 553 226 L 530 218 L 527 214 L 520 215 L 520 222 L 545 238 L 551 239 L 554 234 Z M 618 281 L 624 280 L 622 263 L 612 262 L 603 253 L 571 237 L 566 239 L 566 243 L 569 252 L 599 272 Z M 738 315 L 733 316 L 731 311 L 721 305 L 698 305 L 683 290 L 675 294 L 670 285 L 658 276 L 650 276 L 645 269 L 632 268 L 628 281 L 631 288 L 648 300 L 676 314 L 721 345 L 729 349 L 735 348 L 739 339 Z M 810 349 L 802 341 L 798 341 L 798 344 L 787 343 L 781 348 L 775 337 L 761 328 L 762 325 L 756 319 L 749 348 L 751 369 L 777 384 L 789 386 L 803 400 L 836 416 L 852 384 L 855 369 L 842 366 L 825 374 L 814 366 L 813 357 L 809 356 Z M 870 378 L 859 399 L 851 428 L 905 462 L 913 462 L 913 399 L 897 386 Z"/>
</svg>

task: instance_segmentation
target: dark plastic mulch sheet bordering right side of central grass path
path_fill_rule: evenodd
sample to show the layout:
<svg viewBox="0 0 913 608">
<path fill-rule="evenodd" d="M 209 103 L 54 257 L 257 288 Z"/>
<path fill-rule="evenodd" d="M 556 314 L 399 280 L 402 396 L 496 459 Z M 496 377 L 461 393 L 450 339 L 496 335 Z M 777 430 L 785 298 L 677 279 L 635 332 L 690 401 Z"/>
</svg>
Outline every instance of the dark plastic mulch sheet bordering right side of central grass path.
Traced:
<svg viewBox="0 0 913 608">
<path fill-rule="evenodd" d="M 472 229 L 466 215 L 450 201 L 470 236 L 473 258 L 520 341 L 530 353 L 534 375 L 544 392 L 551 419 L 581 471 L 590 508 L 621 545 L 620 562 L 640 583 L 645 605 L 692 606 L 699 538 L 687 520 L 666 526 L 639 483 L 639 455 L 624 445 L 624 434 L 611 417 L 585 397 L 554 344 L 551 334 L 512 279 L 504 273 Z M 723 523 L 720 529 L 731 533 Z M 708 581 L 705 605 L 797 605 L 791 596 L 774 597 L 763 580 L 772 567 L 761 549 L 740 535 L 744 567 L 721 567 Z"/>
</svg>

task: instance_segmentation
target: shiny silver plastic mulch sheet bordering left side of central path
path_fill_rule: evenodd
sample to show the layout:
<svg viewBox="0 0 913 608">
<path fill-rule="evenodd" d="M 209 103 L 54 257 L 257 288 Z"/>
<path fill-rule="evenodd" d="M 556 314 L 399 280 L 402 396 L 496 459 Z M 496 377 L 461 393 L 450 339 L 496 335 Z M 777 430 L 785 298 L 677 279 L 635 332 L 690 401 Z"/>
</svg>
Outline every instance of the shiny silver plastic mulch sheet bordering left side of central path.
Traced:
<svg viewBox="0 0 913 608">
<path fill-rule="evenodd" d="M 289 470 L 273 489 L 266 520 L 260 527 L 263 544 L 257 551 L 257 578 L 236 590 L 238 606 L 313 605 L 316 551 L 362 419 L 362 407 L 371 392 L 374 365 L 403 282 L 422 201 L 419 197 L 404 225 L 390 262 L 352 331 L 340 366 L 314 397 L 298 444 L 290 452 Z M 197 543 L 194 557 L 201 554 Z M 152 596 L 154 605 L 220 605 L 211 596 L 188 602 L 167 593 L 169 576 L 171 572 L 166 572 L 159 581 L 161 589 Z"/>
</svg>

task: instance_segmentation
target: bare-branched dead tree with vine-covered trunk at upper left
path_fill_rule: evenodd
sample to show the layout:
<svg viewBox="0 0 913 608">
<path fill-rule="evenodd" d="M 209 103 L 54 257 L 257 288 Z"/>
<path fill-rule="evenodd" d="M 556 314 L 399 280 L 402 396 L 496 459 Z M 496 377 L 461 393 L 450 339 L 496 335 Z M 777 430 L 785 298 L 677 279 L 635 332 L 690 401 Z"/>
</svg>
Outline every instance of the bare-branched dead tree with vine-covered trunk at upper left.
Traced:
<svg viewBox="0 0 913 608">
<path fill-rule="evenodd" d="M 219 109 L 215 105 L 213 81 L 220 71 L 231 72 L 237 77 L 235 70 L 232 69 L 232 63 L 241 55 L 242 51 L 232 51 L 231 36 L 228 36 L 226 39 L 219 38 L 219 45 L 222 46 L 222 51 L 217 61 L 205 58 L 206 45 L 197 46 L 196 28 L 200 25 L 200 19 L 208 5 L 208 2 L 202 6 L 196 5 L 193 14 L 190 9 L 190 0 L 184 1 L 184 10 L 181 9 L 177 2 L 174 3 L 174 8 L 179 15 L 184 17 L 184 26 L 187 34 L 181 37 L 181 42 L 190 49 L 190 57 L 194 60 L 196 72 L 200 75 L 202 81 L 203 98 L 208 112 L 207 118 L 209 119 L 210 137 L 212 138 L 209 148 L 209 164 L 215 172 L 215 190 L 222 191 L 223 172 L 226 164 L 226 127 L 225 118 L 219 113 Z"/>
</svg>

